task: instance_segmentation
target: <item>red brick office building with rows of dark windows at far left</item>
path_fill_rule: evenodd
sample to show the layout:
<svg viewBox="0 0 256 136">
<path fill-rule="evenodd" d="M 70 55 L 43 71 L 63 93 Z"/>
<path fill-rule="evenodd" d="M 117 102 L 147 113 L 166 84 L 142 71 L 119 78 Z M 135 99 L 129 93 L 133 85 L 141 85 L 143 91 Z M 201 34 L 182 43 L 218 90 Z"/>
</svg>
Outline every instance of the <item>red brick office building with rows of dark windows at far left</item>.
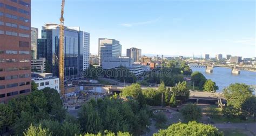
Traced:
<svg viewBox="0 0 256 136">
<path fill-rule="evenodd" d="M 0 103 L 31 92 L 30 0 L 0 1 Z"/>
</svg>

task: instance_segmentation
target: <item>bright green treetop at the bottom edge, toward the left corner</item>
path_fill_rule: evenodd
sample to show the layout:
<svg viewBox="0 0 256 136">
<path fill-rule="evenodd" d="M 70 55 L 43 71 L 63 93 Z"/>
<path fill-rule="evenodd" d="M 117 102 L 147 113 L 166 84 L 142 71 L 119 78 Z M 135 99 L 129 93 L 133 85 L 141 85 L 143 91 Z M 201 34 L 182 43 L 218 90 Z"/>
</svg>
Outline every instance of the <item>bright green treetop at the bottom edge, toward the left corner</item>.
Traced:
<svg viewBox="0 0 256 136">
<path fill-rule="evenodd" d="M 30 125 L 30 127 L 28 128 L 28 130 L 26 130 L 25 132 L 23 132 L 23 134 L 25 136 L 51 136 L 52 134 L 49 132 L 48 129 L 43 129 L 41 127 L 41 125 L 37 126 L 33 126 L 32 124 Z"/>
</svg>

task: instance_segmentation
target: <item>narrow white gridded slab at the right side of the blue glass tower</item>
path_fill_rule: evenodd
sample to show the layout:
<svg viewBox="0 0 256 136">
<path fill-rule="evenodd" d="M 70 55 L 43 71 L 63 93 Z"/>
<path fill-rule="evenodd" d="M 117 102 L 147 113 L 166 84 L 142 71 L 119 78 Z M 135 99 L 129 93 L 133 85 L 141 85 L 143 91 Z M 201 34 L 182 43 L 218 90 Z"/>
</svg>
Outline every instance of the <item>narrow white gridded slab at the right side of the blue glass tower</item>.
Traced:
<svg viewBox="0 0 256 136">
<path fill-rule="evenodd" d="M 83 34 L 84 34 L 83 70 L 86 70 L 90 67 L 90 33 L 84 32 Z"/>
</svg>

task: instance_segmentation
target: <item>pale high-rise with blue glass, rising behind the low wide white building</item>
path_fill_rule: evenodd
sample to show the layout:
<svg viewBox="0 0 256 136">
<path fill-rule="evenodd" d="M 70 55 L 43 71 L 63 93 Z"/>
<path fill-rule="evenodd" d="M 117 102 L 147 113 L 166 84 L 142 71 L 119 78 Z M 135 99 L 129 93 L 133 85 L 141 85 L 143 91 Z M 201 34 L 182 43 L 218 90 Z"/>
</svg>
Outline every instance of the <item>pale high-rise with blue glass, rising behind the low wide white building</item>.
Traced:
<svg viewBox="0 0 256 136">
<path fill-rule="evenodd" d="M 99 38 L 99 65 L 102 66 L 104 57 L 120 57 L 122 54 L 122 45 L 118 40 Z"/>
</svg>

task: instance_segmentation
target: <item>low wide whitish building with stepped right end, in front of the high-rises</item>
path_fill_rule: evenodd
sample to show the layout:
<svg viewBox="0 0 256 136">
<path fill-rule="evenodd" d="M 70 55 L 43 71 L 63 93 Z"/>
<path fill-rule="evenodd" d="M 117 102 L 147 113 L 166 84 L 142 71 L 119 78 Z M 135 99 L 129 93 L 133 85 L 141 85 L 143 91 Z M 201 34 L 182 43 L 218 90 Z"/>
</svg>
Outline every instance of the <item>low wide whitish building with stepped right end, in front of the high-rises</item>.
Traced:
<svg viewBox="0 0 256 136">
<path fill-rule="evenodd" d="M 105 57 L 102 60 L 103 69 L 116 69 L 117 67 L 124 66 L 130 70 L 135 76 L 143 73 L 143 66 L 134 64 L 133 59 L 129 57 Z"/>
</svg>

